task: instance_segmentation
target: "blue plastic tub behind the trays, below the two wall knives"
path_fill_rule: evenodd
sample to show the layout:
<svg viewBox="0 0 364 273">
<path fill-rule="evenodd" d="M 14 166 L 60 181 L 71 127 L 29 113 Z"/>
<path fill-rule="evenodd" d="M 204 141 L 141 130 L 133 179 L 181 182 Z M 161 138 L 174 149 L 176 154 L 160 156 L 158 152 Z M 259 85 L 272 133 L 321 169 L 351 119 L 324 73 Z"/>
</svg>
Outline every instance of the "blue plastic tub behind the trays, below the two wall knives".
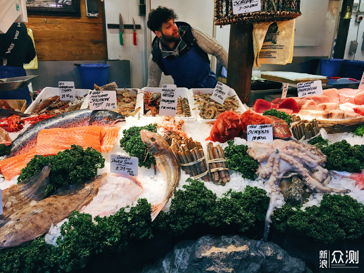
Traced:
<svg viewBox="0 0 364 273">
<path fill-rule="evenodd" d="M 109 66 L 107 64 L 81 64 L 78 72 L 83 89 L 94 89 L 94 84 L 99 86 L 107 84 Z"/>
</svg>

